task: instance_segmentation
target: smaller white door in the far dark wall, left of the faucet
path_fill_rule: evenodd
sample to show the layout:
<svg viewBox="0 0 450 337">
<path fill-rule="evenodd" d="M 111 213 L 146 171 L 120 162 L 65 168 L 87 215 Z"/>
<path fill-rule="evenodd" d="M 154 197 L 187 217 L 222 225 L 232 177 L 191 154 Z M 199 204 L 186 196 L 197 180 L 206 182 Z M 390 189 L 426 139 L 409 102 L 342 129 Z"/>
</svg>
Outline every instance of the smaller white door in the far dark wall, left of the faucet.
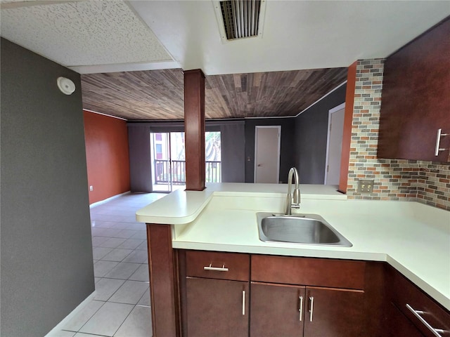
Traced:
<svg viewBox="0 0 450 337">
<path fill-rule="evenodd" d="M 278 183 L 281 126 L 255 126 L 255 183 Z"/>
</svg>

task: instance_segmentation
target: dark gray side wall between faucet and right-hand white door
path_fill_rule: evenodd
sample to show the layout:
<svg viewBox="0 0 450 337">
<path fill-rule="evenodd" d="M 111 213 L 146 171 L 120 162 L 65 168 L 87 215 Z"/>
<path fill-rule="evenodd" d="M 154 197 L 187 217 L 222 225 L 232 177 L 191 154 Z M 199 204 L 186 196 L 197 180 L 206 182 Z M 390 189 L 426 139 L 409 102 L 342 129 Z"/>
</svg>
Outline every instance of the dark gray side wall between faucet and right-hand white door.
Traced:
<svg viewBox="0 0 450 337">
<path fill-rule="evenodd" d="M 328 111 L 345 102 L 346 88 L 340 86 L 295 119 L 295 166 L 302 184 L 323 184 Z"/>
</svg>

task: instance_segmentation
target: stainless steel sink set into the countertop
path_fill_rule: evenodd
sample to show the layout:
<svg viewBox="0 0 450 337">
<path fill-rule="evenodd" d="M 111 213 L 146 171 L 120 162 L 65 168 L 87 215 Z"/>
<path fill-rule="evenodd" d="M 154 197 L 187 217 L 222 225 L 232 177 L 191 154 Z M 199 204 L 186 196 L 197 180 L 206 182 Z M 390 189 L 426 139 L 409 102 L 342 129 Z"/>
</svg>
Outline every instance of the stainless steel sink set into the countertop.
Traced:
<svg viewBox="0 0 450 337">
<path fill-rule="evenodd" d="M 318 214 L 257 213 L 259 239 L 264 242 L 290 242 L 351 247 L 349 240 Z"/>
</svg>

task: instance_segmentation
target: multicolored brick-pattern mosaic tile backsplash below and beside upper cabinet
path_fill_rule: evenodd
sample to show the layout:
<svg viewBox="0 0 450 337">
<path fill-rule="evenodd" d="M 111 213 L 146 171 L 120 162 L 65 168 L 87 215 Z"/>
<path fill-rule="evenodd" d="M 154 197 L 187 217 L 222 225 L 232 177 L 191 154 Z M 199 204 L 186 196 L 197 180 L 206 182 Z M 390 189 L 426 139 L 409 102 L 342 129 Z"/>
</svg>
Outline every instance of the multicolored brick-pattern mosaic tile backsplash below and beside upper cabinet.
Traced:
<svg viewBox="0 0 450 337">
<path fill-rule="evenodd" d="M 377 158 L 383 88 L 383 59 L 356 66 L 349 199 L 406 200 L 450 211 L 450 165 L 431 161 Z M 358 180 L 374 180 L 373 193 L 358 193 Z"/>
</svg>

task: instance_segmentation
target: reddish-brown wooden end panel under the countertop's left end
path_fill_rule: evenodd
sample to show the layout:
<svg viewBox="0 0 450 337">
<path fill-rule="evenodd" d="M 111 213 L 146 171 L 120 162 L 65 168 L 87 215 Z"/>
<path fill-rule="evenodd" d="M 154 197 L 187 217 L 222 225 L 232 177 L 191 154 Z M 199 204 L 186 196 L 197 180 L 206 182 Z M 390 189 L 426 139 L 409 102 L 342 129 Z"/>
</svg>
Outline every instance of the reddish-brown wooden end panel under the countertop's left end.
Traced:
<svg viewBox="0 0 450 337">
<path fill-rule="evenodd" d="M 153 337 L 181 336 L 178 260 L 170 225 L 147 224 Z"/>
</svg>

